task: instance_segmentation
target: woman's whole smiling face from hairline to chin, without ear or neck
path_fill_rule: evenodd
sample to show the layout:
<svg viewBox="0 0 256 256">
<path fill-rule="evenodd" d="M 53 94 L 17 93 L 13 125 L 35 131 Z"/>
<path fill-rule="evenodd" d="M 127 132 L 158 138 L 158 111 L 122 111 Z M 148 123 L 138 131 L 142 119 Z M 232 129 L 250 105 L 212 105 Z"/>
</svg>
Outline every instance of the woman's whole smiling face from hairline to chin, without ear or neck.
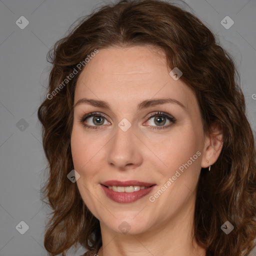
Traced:
<svg viewBox="0 0 256 256">
<path fill-rule="evenodd" d="M 77 186 L 111 231 L 143 233 L 193 215 L 204 133 L 194 93 L 169 71 L 157 48 L 111 47 L 99 49 L 78 77 Z"/>
</svg>

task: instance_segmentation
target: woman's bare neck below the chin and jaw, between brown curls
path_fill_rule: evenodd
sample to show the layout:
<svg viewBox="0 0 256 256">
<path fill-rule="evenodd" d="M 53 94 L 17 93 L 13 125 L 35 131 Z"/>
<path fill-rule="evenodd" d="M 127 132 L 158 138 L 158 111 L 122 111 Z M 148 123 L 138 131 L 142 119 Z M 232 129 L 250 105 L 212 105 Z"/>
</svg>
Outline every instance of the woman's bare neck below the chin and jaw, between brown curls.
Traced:
<svg viewBox="0 0 256 256">
<path fill-rule="evenodd" d="M 100 222 L 102 246 L 98 256 L 205 256 L 205 248 L 193 239 L 194 204 L 186 205 L 172 219 L 146 232 L 120 234 Z"/>
</svg>

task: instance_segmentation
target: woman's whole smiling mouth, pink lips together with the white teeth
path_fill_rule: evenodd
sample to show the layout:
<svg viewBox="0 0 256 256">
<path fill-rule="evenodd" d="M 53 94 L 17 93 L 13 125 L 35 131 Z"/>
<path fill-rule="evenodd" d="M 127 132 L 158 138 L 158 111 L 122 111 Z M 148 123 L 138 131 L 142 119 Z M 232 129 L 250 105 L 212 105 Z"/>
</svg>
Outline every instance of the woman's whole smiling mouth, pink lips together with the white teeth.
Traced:
<svg viewBox="0 0 256 256">
<path fill-rule="evenodd" d="M 156 184 L 137 180 L 108 180 L 100 185 L 108 198 L 119 203 L 136 201 L 144 197 L 156 186 Z"/>
</svg>

